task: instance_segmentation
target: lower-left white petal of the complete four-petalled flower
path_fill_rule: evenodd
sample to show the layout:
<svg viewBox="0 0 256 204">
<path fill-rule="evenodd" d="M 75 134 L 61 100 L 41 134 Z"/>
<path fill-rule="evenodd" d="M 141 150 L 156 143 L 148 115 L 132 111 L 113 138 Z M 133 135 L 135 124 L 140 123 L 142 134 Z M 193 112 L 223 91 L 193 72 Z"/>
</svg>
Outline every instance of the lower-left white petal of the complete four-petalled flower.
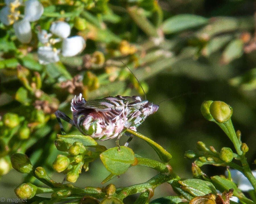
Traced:
<svg viewBox="0 0 256 204">
<path fill-rule="evenodd" d="M 37 50 L 38 60 L 40 64 L 49 64 L 59 61 L 59 50 L 53 50 L 52 47 L 39 47 Z"/>
</svg>

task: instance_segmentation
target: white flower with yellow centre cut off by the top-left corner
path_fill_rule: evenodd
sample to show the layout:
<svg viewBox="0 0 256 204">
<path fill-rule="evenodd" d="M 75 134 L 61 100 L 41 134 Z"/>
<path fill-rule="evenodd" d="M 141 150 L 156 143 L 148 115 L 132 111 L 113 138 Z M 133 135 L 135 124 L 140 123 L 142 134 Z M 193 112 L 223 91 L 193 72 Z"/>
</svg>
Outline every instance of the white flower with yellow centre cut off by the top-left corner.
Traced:
<svg viewBox="0 0 256 204">
<path fill-rule="evenodd" d="M 5 0 L 6 6 L 0 10 L 0 20 L 5 25 L 13 24 L 14 32 L 17 39 L 22 43 L 30 42 L 32 38 L 31 27 L 29 22 L 38 20 L 43 12 L 44 7 L 38 0 L 27 0 L 24 7 L 24 18 L 18 21 L 22 0 Z"/>
</svg>

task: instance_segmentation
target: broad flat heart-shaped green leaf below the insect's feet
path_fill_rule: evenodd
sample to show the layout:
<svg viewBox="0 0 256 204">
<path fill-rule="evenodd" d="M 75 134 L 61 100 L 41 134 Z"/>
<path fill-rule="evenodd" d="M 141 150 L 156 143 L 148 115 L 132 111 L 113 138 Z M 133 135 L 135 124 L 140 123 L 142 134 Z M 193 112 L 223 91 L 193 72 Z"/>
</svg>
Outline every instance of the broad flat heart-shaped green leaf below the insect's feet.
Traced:
<svg viewBox="0 0 256 204">
<path fill-rule="evenodd" d="M 118 151 L 118 147 L 114 147 L 100 154 L 102 163 L 114 175 L 125 173 L 129 166 L 135 162 L 132 149 L 125 146 L 121 146 L 120 148 L 120 151 Z"/>
</svg>

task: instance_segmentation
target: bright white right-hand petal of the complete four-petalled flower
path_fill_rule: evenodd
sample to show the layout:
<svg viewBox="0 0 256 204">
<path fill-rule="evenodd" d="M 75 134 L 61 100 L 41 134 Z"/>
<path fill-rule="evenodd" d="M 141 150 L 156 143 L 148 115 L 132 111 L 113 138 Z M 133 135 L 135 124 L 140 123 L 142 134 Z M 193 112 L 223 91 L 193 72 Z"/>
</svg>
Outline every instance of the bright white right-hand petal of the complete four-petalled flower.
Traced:
<svg viewBox="0 0 256 204">
<path fill-rule="evenodd" d="M 62 55 L 64 57 L 75 56 L 84 50 L 85 45 L 85 41 L 81 36 L 74 36 L 63 39 Z"/>
</svg>

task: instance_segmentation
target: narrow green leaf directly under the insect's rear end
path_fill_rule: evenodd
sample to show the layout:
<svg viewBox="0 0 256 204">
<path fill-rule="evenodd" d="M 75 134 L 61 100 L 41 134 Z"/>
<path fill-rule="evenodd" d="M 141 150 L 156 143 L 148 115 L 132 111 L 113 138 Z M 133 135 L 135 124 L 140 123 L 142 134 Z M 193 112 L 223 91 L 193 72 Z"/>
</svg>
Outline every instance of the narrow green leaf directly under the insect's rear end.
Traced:
<svg viewBox="0 0 256 204">
<path fill-rule="evenodd" d="M 73 144 L 74 142 L 80 142 L 84 146 L 97 146 L 97 142 L 87 135 L 57 135 L 58 139 L 62 139 L 67 143 Z"/>
</svg>

